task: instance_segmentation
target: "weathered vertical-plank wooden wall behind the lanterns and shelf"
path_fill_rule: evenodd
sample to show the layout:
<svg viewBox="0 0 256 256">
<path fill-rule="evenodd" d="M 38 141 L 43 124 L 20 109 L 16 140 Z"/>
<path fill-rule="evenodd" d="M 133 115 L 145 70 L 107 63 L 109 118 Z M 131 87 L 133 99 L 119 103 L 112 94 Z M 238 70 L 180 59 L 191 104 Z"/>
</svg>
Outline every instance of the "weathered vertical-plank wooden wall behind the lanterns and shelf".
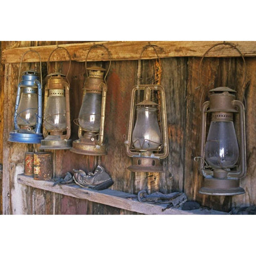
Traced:
<svg viewBox="0 0 256 256">
<path fill-rule="evenodd" d="M 65 42 L 62 42 L 65 43 Z M 55 44 L 55 42 L 5 42 L 2 50 L 12 47 Z M 205 49 L 207 50 L 207 49 Z M 164 50 L 163 50 L 164 52 Z M 243 62 L 241 58 L 205 58 L 201 68 L 201 82 L 198 88 L 199 57 L 172 57 L 161 59 L 163 74 L 161 84 L 166 93 L 167 123 L 170 154 L 162 161 L 164 173 L 159 179 L 159 190 L 163 193 L 185 191 L 188 198 L 196 200 L 204 206 L 215 210 L 229 211 L 232 206 L 249 206 L 256 204 L 255 185 L 255 69 L 256 58 L 246 58 L 247 74 L 245 82 L 246 99 L 246 142 L 247 142 L 247 174 L 241 181 L 246 194 L 239 196 L 205 196 L 199 195 L 198 189 L 202 176 L 197 170 L 194 157 L 199 156 L 200 133 L 200 100 L 207 100 L 208 91 L 217 86 L 229 86 L 237 90 L 237 97 L 242 100 Z M 144 61 L 145 65 L 150 60 Z M 46 75 L 44 62 L 43 75 Z M 67 70 L 67 64 L 64 70 Z M 104 63 L 105 64 L 105 63 Z M 150 65 L 149 65 L 150 66 Z M 15 180 L 17 174 L 23 172 L 23 155 L 32 150 L 33 146 L 22 143 L 7 142 L 9 132 L 13 129 L 14 101 L 17 92 L 19 64 L 5 65 L 4 127 L 3 151 L 4 179 L 3 184 L 4 214 L 134 214 L 133 212 L 115 207 L 93 203 L 69 196 L 54 194 L 44 190 L 19 185 Z M 82 103 L 82 86 L 84 81 L 84 62 L 71 62 L 70 110 L 71 138 L 77 138 L 77 126 L 73 119 L 78 117 Z M 106 102 L 105 138 L 108 155 L 102 157 L 83 156 L 71 153 L 69 150 L 52 150 L 54 153 L 54 172 L 65 174 L 72 169 L 93 170 L 95 165 L 104 165 L 114 180 L 112 189 L 134 192 L 133 174 L 125 170 L 131 164 L 131 158 L 125 153 L 123 135 L 127 131 L 130 91 L 135 84 L 137 61 L 112 61 L 107 77 L 108 91 Z M 1 78 L 3 78 L 1 74 Z M 3 81 L 1 82 L 3 86 Z M 1 104 L 3 102 L 1 101 Z M 2 106 L 1 106 L 1 109 Z M 2 110 L 3 113 L 3 110 Z M 0 113 L 1 115 L 1 113 Z M 1 116 L 0 116 L 1 117 Z M 1 134 L 1 133 L 0 133 Z M 4 150 L 3 150 L 4 149 Z M 0 158 L 1 159 L 1 158 Z"/>
</svg>

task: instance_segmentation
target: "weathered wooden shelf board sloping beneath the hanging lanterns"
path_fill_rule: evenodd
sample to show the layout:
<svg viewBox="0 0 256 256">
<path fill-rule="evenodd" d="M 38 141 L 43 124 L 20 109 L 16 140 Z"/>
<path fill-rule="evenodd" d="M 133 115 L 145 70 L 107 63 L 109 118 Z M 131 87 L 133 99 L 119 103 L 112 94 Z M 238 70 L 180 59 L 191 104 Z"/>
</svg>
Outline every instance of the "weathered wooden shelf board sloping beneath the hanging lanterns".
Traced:
<svg viewBox="0 0 256 256">
<path fill-rule="evenodd" d="M 101 191 L 81 188 L 77 185 L 56 185 L 53 187 L 52 181 L 34 180 L 23 174 L 17 176 L 18 183 L 34 188 L 39 188 L 54 193 L 86 199 L 92 202 L 114 206 L 120 209 L 138 212 L 143 214 L 228 214 L 215 210 L 198 209 L 183 211 L 171 207 L 166 209 L 166 204 L 156 205 L 153 203 L 141 203 L 134 194 L 124 193 L 122 191 L 105 189 Z M 129 199 L 130 198 L 130 199 Z"/>
</svg>

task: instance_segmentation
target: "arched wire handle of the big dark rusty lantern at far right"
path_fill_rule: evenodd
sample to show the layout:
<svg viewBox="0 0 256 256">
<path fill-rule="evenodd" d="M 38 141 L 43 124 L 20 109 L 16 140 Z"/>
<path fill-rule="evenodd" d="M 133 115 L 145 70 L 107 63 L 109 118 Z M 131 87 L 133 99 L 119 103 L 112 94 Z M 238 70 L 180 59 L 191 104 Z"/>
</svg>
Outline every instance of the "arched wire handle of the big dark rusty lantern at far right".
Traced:
<svg viewBox="0 0 256 256">
<path fill-rule="evenodd" d="M 201 84 L 201 65 L 202 65 L 202 62 L 203 62 L 203 59 L 204 57 L 206 56 L 207 53 L 209 53 L 214 47 L 218 46 L 218 45 L 228 45 L 232 48 L 234 48 L 242 57 L 243 59 L 243 62 L 244 62 L 244 76 L 243 76 L 243 83 L 242 83 L 242 88 L 243 88 L 243 100 L 244 100 L 244 103 L 245 103 L 245 109 L 246 109 L 246 100 L 245 100 L 245 96 L 244 96 L 244 93 L 245 93 L 245 76 L 246 76 L 246 63 L 245 63 L 245 59 L 244 59 L 244 55 L 242 54 L 242 52 L 236 47 L 235 44 L 232 44 L 232 43 L 229 43 L 229 42 L 222 42 L 222 43 L 217 43 L 217 44 L 214 44 L 213 46 L 211 46 L 203 55 L 203 57 L 201 58 L 201 61 L 199 63 L 199 68 L 198 68 L 198 86 L 196 87 L 196 89 L 202 87 L 202 84 Z M 205 90 L 204 90 L 205 91 Z M 200 99 L 200 110 L 202 111 L 202 106 L 201 106 L 201 102 L 202 102 L 202 99 L 203 99 L 203 94 L 204 94 L 204 91 L 201 95 L 201 99 Z"/>
</svg>

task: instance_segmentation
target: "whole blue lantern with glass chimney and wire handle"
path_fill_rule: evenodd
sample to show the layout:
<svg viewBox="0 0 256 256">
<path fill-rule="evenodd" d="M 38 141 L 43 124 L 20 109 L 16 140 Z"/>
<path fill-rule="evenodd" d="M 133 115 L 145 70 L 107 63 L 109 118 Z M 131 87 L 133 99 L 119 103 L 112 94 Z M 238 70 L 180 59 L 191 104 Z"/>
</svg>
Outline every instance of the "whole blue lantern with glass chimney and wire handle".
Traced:
<svg viewBox="0 0 256 256">
<path fill-rule="evenodd" d="M 23 57 L 28 52 L 36 52 L 40 62 L 40 76 L 35 70 L 22 72 L 21 82 L 20 72 Z M 18 91 L 14 110 L 14 130 L 9 134 L 9 141 L 20 143 L 41 143 L 43 134 L 42 124 L 42 65 L 41 57 L 37 51 L 29 50 L 22 55 L 19 77 Z"/>
</svg>

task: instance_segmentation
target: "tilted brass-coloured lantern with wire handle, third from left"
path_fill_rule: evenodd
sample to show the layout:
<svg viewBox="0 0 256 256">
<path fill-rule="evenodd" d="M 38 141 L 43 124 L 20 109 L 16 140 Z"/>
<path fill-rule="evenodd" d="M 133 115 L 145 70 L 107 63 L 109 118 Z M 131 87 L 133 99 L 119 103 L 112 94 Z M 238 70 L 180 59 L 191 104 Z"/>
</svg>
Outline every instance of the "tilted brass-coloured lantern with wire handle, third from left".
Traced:
<svg viewBox="0 0 256 256">
<path fill-rule="evenodd" d="M 93 45 L 89 52 L 93 47 L 98 46 L 106 49 L 103 45 Z M 70 151 L 82 155 L 101 156 L 107 155 L 106 147 L 103 144 L 103 133 L 107 94 L 106 76 L 110 69 L 111 60 L 105 75 L 105 68 L 99 66 L 87 68 L 86 62 L 89 52 L 87 53 L 85 61 L 87 77 L 83 86 L 82 106 L 78 115 L 79 139 L 73 141 L 73 147 Z M 89 70 L 89 74 L 87 70 Z"/>
</svg>

